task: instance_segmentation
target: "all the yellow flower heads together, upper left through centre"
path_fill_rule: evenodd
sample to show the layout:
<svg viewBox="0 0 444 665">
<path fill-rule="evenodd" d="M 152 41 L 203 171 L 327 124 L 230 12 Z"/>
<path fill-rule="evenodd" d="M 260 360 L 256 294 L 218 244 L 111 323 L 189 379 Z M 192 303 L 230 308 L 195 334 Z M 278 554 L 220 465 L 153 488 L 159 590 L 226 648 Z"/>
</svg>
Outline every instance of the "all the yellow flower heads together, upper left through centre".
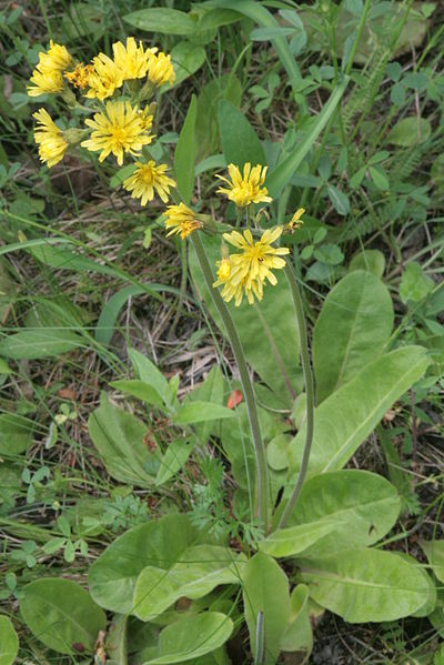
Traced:
<svg viewBox="0 0 444 665">
<path fill-rule="evenodd" d="M 119 167 L 127 158 L 133 158 L 134 168 L 123 180 L 123 189 L 131 198 L 139 199 L 141 205 L 147 205 L 155 195 L 168 203 L 175 182 L 169 177 L 167 164 L 150 159 L 152 148 L 148 147 L 155 139 L 152 97 L 159 87 L 172 84 L 174 77 L 170 56 L 157 48 L 145 48 L 132 37 L 125 44 L 120 41 L 112 44 L 112 58 L 99 53 L 87 64 L 77 62 L 63 46 L 51 41 L 48 52 L 39 54 L 28 92 L 31 97 L 60 94 L 74 113 L 80 108 L 81 117 L 87 118 L 81 127 L 62 130 L 46 109 L 37 111 L 34 140 L 40 159 L 51 168 L 63 159 L 72 144 L 97 152 L 99 162 L 112 154 Z M 292 232 L 300 226 L 305 211 L 300 208 L 285 225 L 261 231 L 262 211 L 254 218 L 254 205 L 272 201 L 265 187 L 266 167 L 246 162 L 241 171 L 235 164 L 229 164 L 228 177 L 216 178 L 223 184 L 218 193 L 235 204 L 238 222 L 245 215 L 246 228 L 228 232 L 225 224 L 220 225 L 222 255 L 216 262 L 218 279 L 213 288 L 221 286 L 223 300 L 234 301 L 235 306 L 244 298 L 253 304 L 255 299 L 262 300 L 266 284 L 276 284 L 274 271 L 285 266 L 283 256 L 290 250 L 273 245 L 284 230 Z M 168 236 L 184 240 L 211 225 L 218 231 L 209 215 L 194 212 L 183 202 L 168 205 L 163 218 Z M 229 245 L 235 251 L 230 253 Z"/>
</svg>

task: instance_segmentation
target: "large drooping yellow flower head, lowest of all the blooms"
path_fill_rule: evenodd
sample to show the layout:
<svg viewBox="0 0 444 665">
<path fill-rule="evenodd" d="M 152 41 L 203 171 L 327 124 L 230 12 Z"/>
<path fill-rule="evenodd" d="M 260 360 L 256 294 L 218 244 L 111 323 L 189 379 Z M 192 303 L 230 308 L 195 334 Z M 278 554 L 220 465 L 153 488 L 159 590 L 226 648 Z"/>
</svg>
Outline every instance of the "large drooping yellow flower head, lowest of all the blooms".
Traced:
<svg viewBox="0 0 444 665">
<path fill-rule="evenodd" d="M 223 285 L 221 295 L 226 302 L 234 298 L 234 303 L 239 306 L 245 295 L 249 303 L 253 304 L 254 296 L 262 300 L 265 280 L 276 284 L 272 270 L 284 268 L 285 261 L 281 256 L 290 252 L 287 248 L 271 246 L 281 233 L 282 226 L 269 229 L 256 242 L 250 230 L 244 231 L 243 235 L 239 231 L 223 234 L 226 242 L 242 250 L 241 253 L 230 255 L 230 272 L 222 270 L 223 261 L 219 264 L 219 279 L 213 286 Z"/>
</svg>

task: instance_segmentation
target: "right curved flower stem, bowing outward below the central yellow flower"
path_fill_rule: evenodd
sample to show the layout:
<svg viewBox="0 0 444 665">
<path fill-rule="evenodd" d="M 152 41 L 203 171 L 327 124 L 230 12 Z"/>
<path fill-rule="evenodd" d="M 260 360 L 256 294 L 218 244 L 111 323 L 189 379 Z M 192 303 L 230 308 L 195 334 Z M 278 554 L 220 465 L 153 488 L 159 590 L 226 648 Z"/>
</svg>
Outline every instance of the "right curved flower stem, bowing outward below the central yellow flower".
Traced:
<svg viewBox="0 0 444 665">
<path fill-rule="evenodd" d="M 310 352 L 309 352 L 309 337 L 306 334 L 306 324 L 304 316 L 304 308 L 302 304 L 301 293 L 297 286 L 296 275 L 293 265 L 287 260 L 285 265 L 285 275 L 289 280 L 290 289 L 293 296 L 294 310 L 296 312 L 296 321 L 299 328 L 299 336 L 301 344 L 301 363 L 304 373 L 305 382 L 305 394 L 306 394 L 306 431 L 305 431 L 305 445 L 302 454 L 301 468 L 299 471 L 296 484 L 294 485 L 293 492 L 289 498 L 289 502 L 282 513 L 281 520 L 279 521 L 278 528 L 283 528 L 295 506 L 295 503 L 301 494 L 302 485 L 304 483 L 306 471 L 309 468 L 310 452 L 313 442 L 313 430 L 314 430 L 314 383 L 312 367 L 310 364 Z"/>
</svg>

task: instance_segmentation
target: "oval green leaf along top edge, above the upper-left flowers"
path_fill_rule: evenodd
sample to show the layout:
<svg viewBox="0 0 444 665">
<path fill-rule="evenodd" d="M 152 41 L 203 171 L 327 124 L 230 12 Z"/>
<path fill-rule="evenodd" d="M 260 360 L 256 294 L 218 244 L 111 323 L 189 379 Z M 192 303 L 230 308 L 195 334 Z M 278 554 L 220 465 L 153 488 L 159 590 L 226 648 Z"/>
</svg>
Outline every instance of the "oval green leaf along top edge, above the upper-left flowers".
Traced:
<svg viewBox="0 0 444 665">
<path fill-rule="evenodd" d="M 123 20 L 138 30 L 161 34 L 193 34 L 196 31 L 196 23 L 188 13 L 167 7 L 140 9 L 128 13 Z"/>
</svg>

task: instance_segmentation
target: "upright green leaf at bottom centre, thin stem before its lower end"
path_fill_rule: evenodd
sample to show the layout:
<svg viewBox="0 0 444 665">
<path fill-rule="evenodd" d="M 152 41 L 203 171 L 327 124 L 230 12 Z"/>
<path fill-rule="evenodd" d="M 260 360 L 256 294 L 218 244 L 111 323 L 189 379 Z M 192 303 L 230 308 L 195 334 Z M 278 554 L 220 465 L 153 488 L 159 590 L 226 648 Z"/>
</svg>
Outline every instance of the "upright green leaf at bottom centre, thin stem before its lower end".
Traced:
<svg viewBox="0 0 444 665">
<path fill-rule="evenodd" d="M 290 621 L 289 580 L 276 562 L 262 552 L 245 566 L 243 605 L 253 655 L 256 655 L 258 615 L 261 612 L 265 632 L 263 664 L 275 665 L 281 638 Z"/>
</svg>

